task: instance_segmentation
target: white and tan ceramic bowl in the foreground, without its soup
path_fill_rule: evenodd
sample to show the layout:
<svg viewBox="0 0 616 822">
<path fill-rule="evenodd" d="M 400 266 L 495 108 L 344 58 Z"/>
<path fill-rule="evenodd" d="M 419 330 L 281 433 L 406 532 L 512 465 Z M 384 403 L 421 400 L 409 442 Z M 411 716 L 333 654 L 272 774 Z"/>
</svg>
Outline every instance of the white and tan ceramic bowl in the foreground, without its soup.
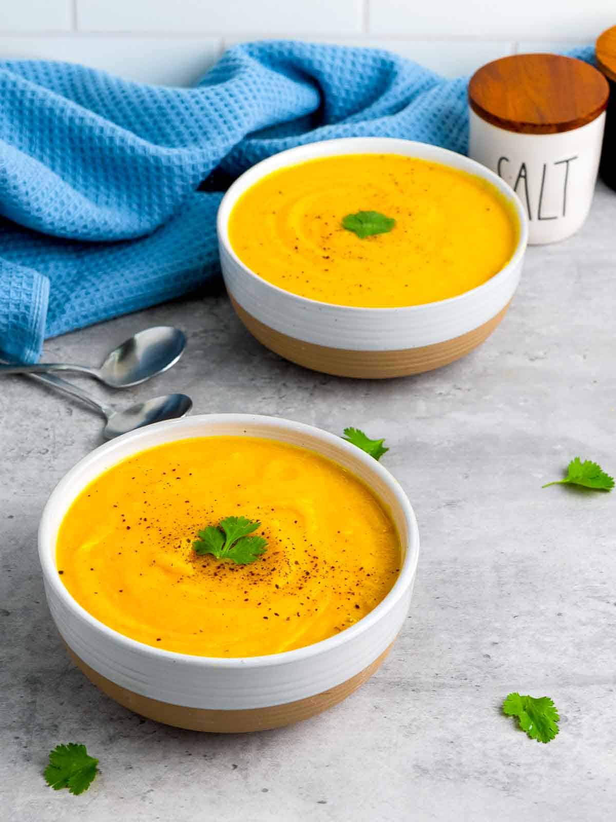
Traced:
<svg viewBox="0 0 616 822">
<path fill-rule="evenodd" d="M 211 658 L 153 648 L 94 619 L 57 573 L 57 531 L 72 501 L 122 459 L 191 436 L 260 436 L 333 459 L 366 483 L 390 511 L 404 552 L 398 580 L 356 625 L 328 640 L 284 653 Z M 375 459 L 338 436 L 273 417 L 213 414 L 156 423 L 118 437 L 81 459 L 57 484 L 39 527 L 45 593 L 71 656 L 105 693 L 149 718 L 201 731 L 237 732 L 305 719 L 344 699 L 379 667 L 407 616 L 419 535 L 396 480 Z"/>
</svg>

